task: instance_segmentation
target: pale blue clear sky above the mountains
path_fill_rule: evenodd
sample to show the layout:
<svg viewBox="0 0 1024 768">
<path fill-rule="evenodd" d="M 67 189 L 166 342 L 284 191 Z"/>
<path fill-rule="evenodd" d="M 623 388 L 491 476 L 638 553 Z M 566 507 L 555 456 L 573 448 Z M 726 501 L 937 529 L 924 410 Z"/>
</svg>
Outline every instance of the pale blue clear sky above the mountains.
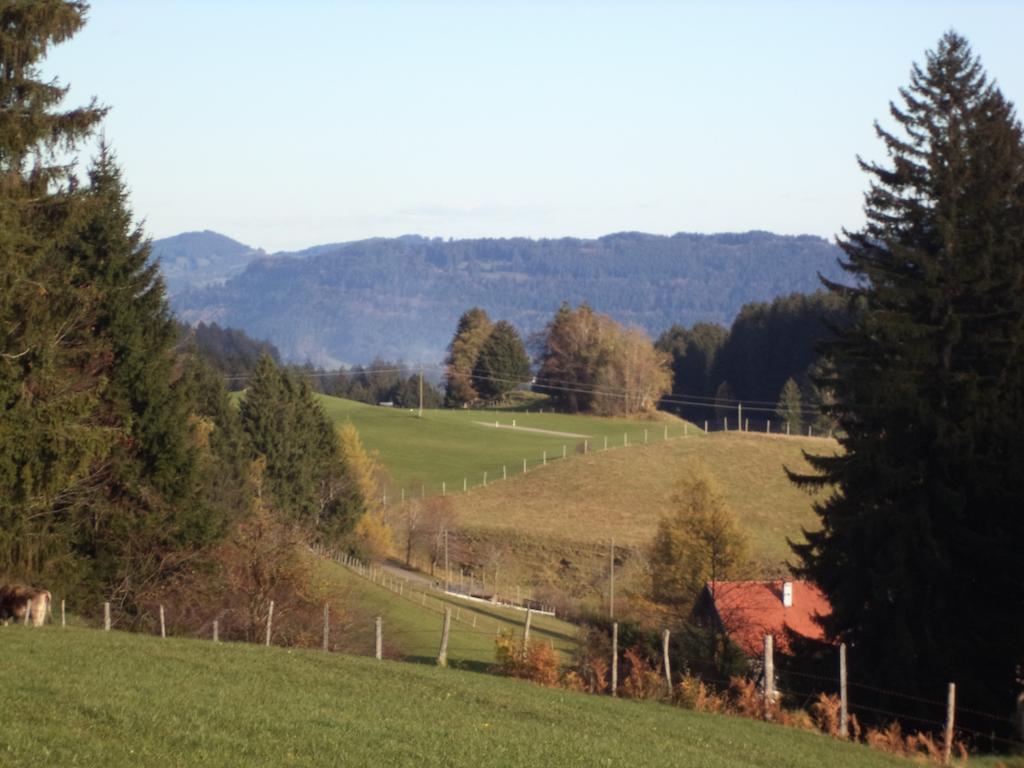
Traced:
<svg viewBox="0 0 1024 768">
<path fill-rule="evenodd" d="M 1010 0 L 93 0 L 42 69 L 111 108 L 153 238 L 831 239 L 949 29 L 1024 101 Z"/>
</svg>

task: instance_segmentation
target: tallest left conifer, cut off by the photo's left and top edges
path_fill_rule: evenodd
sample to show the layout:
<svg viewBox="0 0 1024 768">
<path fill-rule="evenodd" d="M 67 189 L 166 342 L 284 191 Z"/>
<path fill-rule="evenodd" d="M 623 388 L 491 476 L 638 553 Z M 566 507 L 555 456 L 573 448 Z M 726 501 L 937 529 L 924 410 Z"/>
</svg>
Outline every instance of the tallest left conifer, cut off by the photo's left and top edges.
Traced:
<svg viewBox="0 0 1024 768">
<path fill-rule="evenodd" d="M 67 87 L 38 67 L 85 11 L 60 0 L 0 7 L 0 570 L 19 577 L 67 566 L 61 509 L 94 486 L 116 437 L 95 419 L 110 349 L 91 333 L 95 292 L 61 253 L 78 196 L 55 158 L 104 110 L 60 111 Z"/>
</svg>

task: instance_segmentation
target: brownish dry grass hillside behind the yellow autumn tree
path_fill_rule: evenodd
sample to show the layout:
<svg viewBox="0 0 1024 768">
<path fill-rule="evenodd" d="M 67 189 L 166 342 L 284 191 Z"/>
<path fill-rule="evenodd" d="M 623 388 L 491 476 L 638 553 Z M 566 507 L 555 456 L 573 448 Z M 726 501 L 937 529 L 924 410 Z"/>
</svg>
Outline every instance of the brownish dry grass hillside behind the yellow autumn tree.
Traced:
<svg viewBox="0 0 1024 768">
<path fill-rule="evenodd" d="M 463 525 L 570 543 L 605 545 L 614 538 L 644 546 L 672 509 L 672 496 L 688 464 L 703 463 L 722 486 L 764 572 L 792 559 L 786 539 L 818 525 L 813 499 L 784 468 L 807 471 L 803 452 L 836 450 L 833 440 L 716 432 L 627 451 L 601 452 L 557 462 L 507 483 L 454 496 Z"/>
</svg>

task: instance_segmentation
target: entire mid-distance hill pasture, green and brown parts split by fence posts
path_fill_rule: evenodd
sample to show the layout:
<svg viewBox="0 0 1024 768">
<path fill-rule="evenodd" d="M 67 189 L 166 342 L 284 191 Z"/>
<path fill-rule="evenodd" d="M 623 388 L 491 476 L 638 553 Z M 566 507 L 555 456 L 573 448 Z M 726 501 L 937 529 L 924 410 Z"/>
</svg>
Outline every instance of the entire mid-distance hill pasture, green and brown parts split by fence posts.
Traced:
<svg viewBox="0 0 1024 768">
<path fill-rule="evenodd" d="M 389 504 L 398 501 L 400 488 L 407 497 L 438 494 L 443 482 L 464 537 L 465 561 L 483 571 L 497 568 L 510 583 L 559 580 L 566 562 L 577 581 L 586 582 L 612 538 L 622 547 L 646 545 L 671 508 L 683 468 L 693 462 L 718 478 L 746 531 L 751 575 L 784 572 L 792 559 L 786 540 L 800 540 L 802 528 L 818 521 L 811 497 L 790 482 L 783 468 L 807 469 L 804 451 L 837 449 L 824 438 L 706 434 L 671 416 L 631 421 L 440 410 L 419 419 L 334 397 L 322 402 L 336 422 L 351 421 L 379 454 L 393 480 Z M 525 429 L 508 428 L 513 419 Z M 496 421 L 502 426 L 496 428 Z"/>
</svg>

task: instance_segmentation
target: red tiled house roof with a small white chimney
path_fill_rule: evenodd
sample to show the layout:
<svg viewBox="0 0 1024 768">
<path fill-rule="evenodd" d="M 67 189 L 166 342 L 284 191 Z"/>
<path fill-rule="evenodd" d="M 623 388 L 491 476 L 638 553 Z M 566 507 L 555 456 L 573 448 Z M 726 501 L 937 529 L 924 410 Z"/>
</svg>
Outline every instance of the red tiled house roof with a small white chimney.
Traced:
<svg viewBox="0 0 1024 768">
<path fill-rule="evenodd" d="M 831 612 L 824 594 L 809 582 L 791 582 L 793 605 L 782 605 L 782 582 L 709 582 L 705 589 L 729 637 L 744 653 L 759 655 L 764 636 L 773 635 L 775 647 L 786 651 L 785 629 L 812 640 L 824 640 L 814 621 Z"/>
</svg>

